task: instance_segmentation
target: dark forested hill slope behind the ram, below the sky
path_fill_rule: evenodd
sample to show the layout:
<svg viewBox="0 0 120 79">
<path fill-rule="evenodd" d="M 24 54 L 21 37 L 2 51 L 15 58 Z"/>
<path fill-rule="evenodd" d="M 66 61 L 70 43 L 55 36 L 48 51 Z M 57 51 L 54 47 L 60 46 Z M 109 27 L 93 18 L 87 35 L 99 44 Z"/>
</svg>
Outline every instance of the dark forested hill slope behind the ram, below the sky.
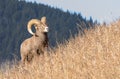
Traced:
<svg viewBox="0 0 120 79">
<path fill-rule="evenodd" d="M 63 12 L 43 4 L 25 2 L 24 0 L 0 0 L 0 62 L 19 56 L 20 44 L 31 35 L 26 25 L 30 19 L 47 17 L 50 28 L 50 46 L 64 42 L 78 33 L 76 23 L 84 24 L 84 28 L 93 24 L 92 19 L 86 20 L 81 14 Z"/>
</svg>

